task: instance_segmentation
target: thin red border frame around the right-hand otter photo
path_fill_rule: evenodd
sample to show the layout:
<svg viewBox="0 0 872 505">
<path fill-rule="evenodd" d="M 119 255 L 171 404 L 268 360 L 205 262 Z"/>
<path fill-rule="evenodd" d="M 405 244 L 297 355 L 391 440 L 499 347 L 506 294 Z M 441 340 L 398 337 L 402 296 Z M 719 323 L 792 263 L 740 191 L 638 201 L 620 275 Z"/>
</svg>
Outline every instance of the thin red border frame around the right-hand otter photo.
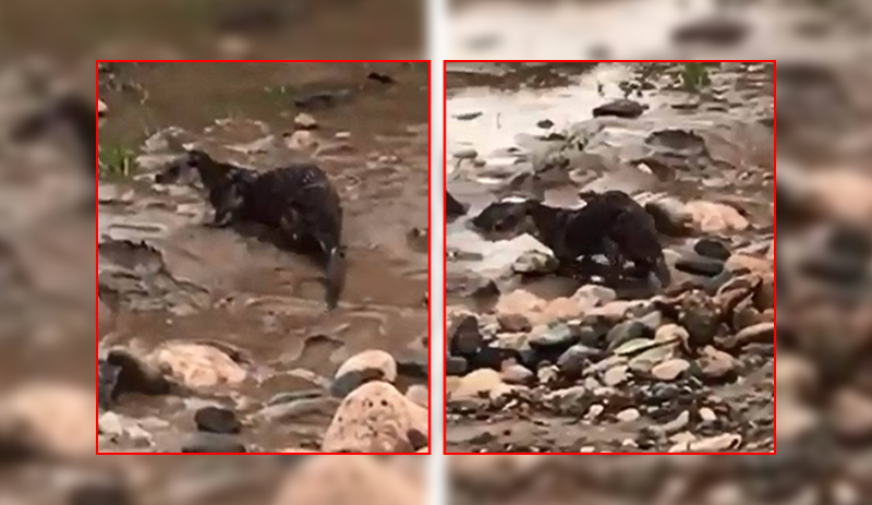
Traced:
<svg viewBox="0 0 872 505">
<path fill-rule="evenodd" d="M 775 172 L 775 178 L 773 181 L 773 206 L 775 205 L 775 195 L 776 195 L 776 187 L 777 187 L 777 110 L 776 110 L 776 101 L 777 101 L 777 63 L 776 60 L 445 60 L 443 63 L 443 163 L 445 166 L 443 167 L 443 202 L 446 200 L 446 193 L 448 191 L 448 63 L 650 63 L 650 62 L 664 62 L 664 63 L 771 63 L 773 65 L 773 116 L 775 118 L 773 124 L 773 171 Z M 445 275 L 447 276 L 447 254 L 448 254 L 448 239 L 447 239 L 447 215 L 445 214 L 445 208 L 443 207 L 443 237 L 445 241 L 443 242 L 443 268 Z M 777 215 L 777 214 L 776 214 Z M 776 225 L 773 224 L 773 235 L 777 233 Z M 776 243 L 776 240 L 773 238 L 773 245 Z M 776 255 L 777 256 L 777 255 Z M 775 262 L 773 262 L 773 268 L 775 267 Z M 775 287 L 775 305 L 777 306 L 777 279 L 776 279 L 776 287 Z M 446 361 L 447 361 L 447 351 L 448 351 L 448 300 L 447 300 L 447 282 L 443 285 L 443 314 L 445 314 L 443 321 L 443 334 L 445 335 L 445 349 L 443 349 L 443 371 L 446 370 Z M 774 350 L 774 363 L 773 363 L 773 375 L 775 374 L 775 370 L 777 369 L 777 354 L 778 354 L 778 346 L 777 346 L 777 310 L 776 310 L 776 317 L 774 318 L 774 323 L 776 326 L 776 345 Z M 774 380 L 773 380 L 774 384 Z M 776 385 L 777 389 L 777 385 Z M 443 405 L 444 405 L 444 412 L 443 412 L 443 450 L 446 455 L 481 455 L 482 453 L 449 453 L 448 452 L 448 375 L 443 374 Z M 776 406 L 775 414 L 773 416 L 773 423 L 777 429 L 777 402 L 776 402 L 777 394 L 773 392 L 773 405 Z M 772 453 L 493 453 L 493 454 L 501 454 L 501 455 L 522 455 L 522 454 L 536 454 L 536 455 L 585 455 L 585 456 L 596 456 L 596 455 L 727 455 L 727 454 L 741 454 L 741 455 L 773 455 L 776 453 L 775 448 L 777 447 L 777 434 L 773 437 L 773 452 Z"/>
</svg>

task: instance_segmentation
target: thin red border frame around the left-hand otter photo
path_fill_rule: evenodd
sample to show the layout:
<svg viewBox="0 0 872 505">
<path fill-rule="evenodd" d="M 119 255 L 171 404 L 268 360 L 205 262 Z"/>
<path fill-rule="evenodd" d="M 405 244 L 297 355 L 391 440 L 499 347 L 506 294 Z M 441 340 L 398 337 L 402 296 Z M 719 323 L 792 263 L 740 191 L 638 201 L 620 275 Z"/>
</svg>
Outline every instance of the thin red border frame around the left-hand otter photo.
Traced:
<svg viewBox="0 0 872 505">
<path fill-rule="evenodd" d="M 95 95 L 95 128 L 97 130 L 97 142 L 94 146 L 95 151 L 98 149 L 100 145 L 100 128 L 99 128 L 99 111 L 97 108 L 99 107 L 97 104 L 100 98 L 99 93 L 99 83 L 100 83 L 100 73 L 99 73 L 99 65 L 100 63 L 427 63 L 427 227 L 428 229 L 433 227 L 433 212 L 431 211 L 432 204 L 432 176 L 433 176 L 433 63 L 431 60 L 96 60 L 94 63 L 94 95 Z M 99 157 L 97 160 L 97 166 L 95 167 L 97 170 L 96 176 L 97 180 L 99 180 Z M 96 192 L 95 192 L 96 194 Z M 99 196 L 95 197 L 95 223 L 99 223 Z M 99 224 L 96 225 L 96 229 L 99 230 Z M 97 274 L 95 274 L 95 288 L 98 288 L 97 284 L 99 282 L 99 254 L 97 254 L 97 248 L 99 245 L 99 235 L 95 236 L 95 254 L 94 254 L 94 262 Z M 427 252 L 427 421 L 431 434 L 433 433 L 433 411 L 431 410 L 431 406 L 433 405 L 433 393 L 432 393 L 432 372 L 433 372 L 433 288 L 432 288 L 432 262 L 433 262 L 433 254 L 432 249 L 429 248 Z M 97 340 L 96 353 L 95 353 L 95 393 L 98 387 L 98 377 L 99 372 L 97 371 L 97 360 L 99 360 L 99 290 L 96 290 L 95 293 L 95 301 L 96 309 L 95 309 L 95 321 L 97 330 L 95 332 L 95 339 Z M 97 456 L 112 456 L 112 455 L 186 455 L 186 454 L 195 454 L 195 453 L 100 453 L 99 452 L 99 406 L 96 407 L 96 423 L 94 426 L 95 430 L 95 450 Z M 392 454 L 405 454 L 405 455 L 429 455 L 433 450 L 433 441 L 427 441 L 427 452 L 426 453 L 392 453 Z M 289 454 L 289 453 L 196 453 L 196 454 L 242 454 L 242 455 L 279 455 L 279 454 Z M 301 454 L 301 453 L 294 453 Z M 348 454 L 348 453 L 305 453 L 305 454 Z M 374 453 L 358 453 L 358 454 L 374 454 Z"/>
</svg>

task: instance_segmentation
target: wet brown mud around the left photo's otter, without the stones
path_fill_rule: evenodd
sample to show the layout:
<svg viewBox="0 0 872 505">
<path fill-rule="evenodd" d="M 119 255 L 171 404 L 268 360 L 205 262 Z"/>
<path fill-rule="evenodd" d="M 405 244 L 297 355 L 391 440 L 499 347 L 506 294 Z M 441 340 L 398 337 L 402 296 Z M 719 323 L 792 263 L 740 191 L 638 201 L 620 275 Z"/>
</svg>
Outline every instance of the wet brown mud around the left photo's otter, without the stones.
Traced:
<svg viewBox="0 0 872 505">
<path fill-rule="evenodd" d="M 371 72 L 396 83 L 370 80 Z M 258 170 L 314 160 L 341 195 L 349 258 L 340 306 L 328 313 L 323 272 L 314 262 L 256 233 L 204 226 L 210 208 L 203 194 L 185 184 L 154 183 L 148 158 L 141 158 L 131 178 L 100 182 L 100 241 L 155 247 L 174 279 L 170 291 L 178 292 L 159 301 L 149 293 L 137 305 L 156 310 L 128 310 L 117 300 L 120 312 L 105 324 L 101 317 L 102 346 L 148 350 L 170 339 L 235 346 L 254 378 L 232 399 L 218 400 L 243 414 L 299 388 L 288 372 L 331 377 L 344 359 L 365 349 L 386 350 L 400 362 L 401 390 L 426 384 L 427 239 L 421 230 L 428 215 L 427 83 L 426 65 L 404 63 L 141 64 L 101 75 L 100 98 L 110 108 L 100 129 L 104 153 L 119 146 L 140 153 L 150 134 L 177 127 L 182 133 L 170 151 L 195 143 Z M 341 99 L 307 109 L 318 121 L 312 132 L 317 146 L 288 147 L 300 112 L 294 100 L 322 92 L 341 92 Z M 101 254 L 99 268 L 130 261 L 136 262 Z M 170 421 L 156 441 L 158 449 L 172 450 L 192 429 L 192 401 L 129 397 L 118 411 Z M 311 446 L 328 422 L 299 430 L 258 425 L 245 431 L 244 442 L 269 449 Z"/>
</svg>

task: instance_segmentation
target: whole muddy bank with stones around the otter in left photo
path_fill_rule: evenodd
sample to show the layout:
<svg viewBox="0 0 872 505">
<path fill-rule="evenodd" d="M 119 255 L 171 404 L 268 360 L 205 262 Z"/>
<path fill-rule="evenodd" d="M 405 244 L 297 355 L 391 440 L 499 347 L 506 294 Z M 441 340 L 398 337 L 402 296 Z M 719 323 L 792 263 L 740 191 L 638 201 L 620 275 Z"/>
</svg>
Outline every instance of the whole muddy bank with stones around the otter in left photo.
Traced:
<svg viewBox="0 0 872 505">
<path fill-rule="evenodd" d="M 100 98 L 100 450 L 426 449 L 426 65 L 107 65 Z M 313 260 L 206 226 L 183 145 L 327 172 L 335 311 Z"/>
</svg>

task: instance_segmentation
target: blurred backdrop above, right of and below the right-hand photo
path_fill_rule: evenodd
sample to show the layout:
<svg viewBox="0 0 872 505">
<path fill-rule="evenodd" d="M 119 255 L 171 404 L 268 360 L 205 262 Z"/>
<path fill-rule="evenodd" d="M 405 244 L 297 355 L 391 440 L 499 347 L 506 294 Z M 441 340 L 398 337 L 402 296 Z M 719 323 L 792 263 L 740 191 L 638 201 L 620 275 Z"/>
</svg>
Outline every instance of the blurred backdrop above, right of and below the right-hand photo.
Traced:
<svg viewBox="0 0 872 505">
<path fill-rule="evenodd" d="M 782 204 L 775 455 L 457 456 L 455 503 L 870 503 L 871 9 L 851 0 L 455 5 L 458 58 L 777 59 Z M 521 19 L 525 29 L 512 24 Z"/>
</svg>

